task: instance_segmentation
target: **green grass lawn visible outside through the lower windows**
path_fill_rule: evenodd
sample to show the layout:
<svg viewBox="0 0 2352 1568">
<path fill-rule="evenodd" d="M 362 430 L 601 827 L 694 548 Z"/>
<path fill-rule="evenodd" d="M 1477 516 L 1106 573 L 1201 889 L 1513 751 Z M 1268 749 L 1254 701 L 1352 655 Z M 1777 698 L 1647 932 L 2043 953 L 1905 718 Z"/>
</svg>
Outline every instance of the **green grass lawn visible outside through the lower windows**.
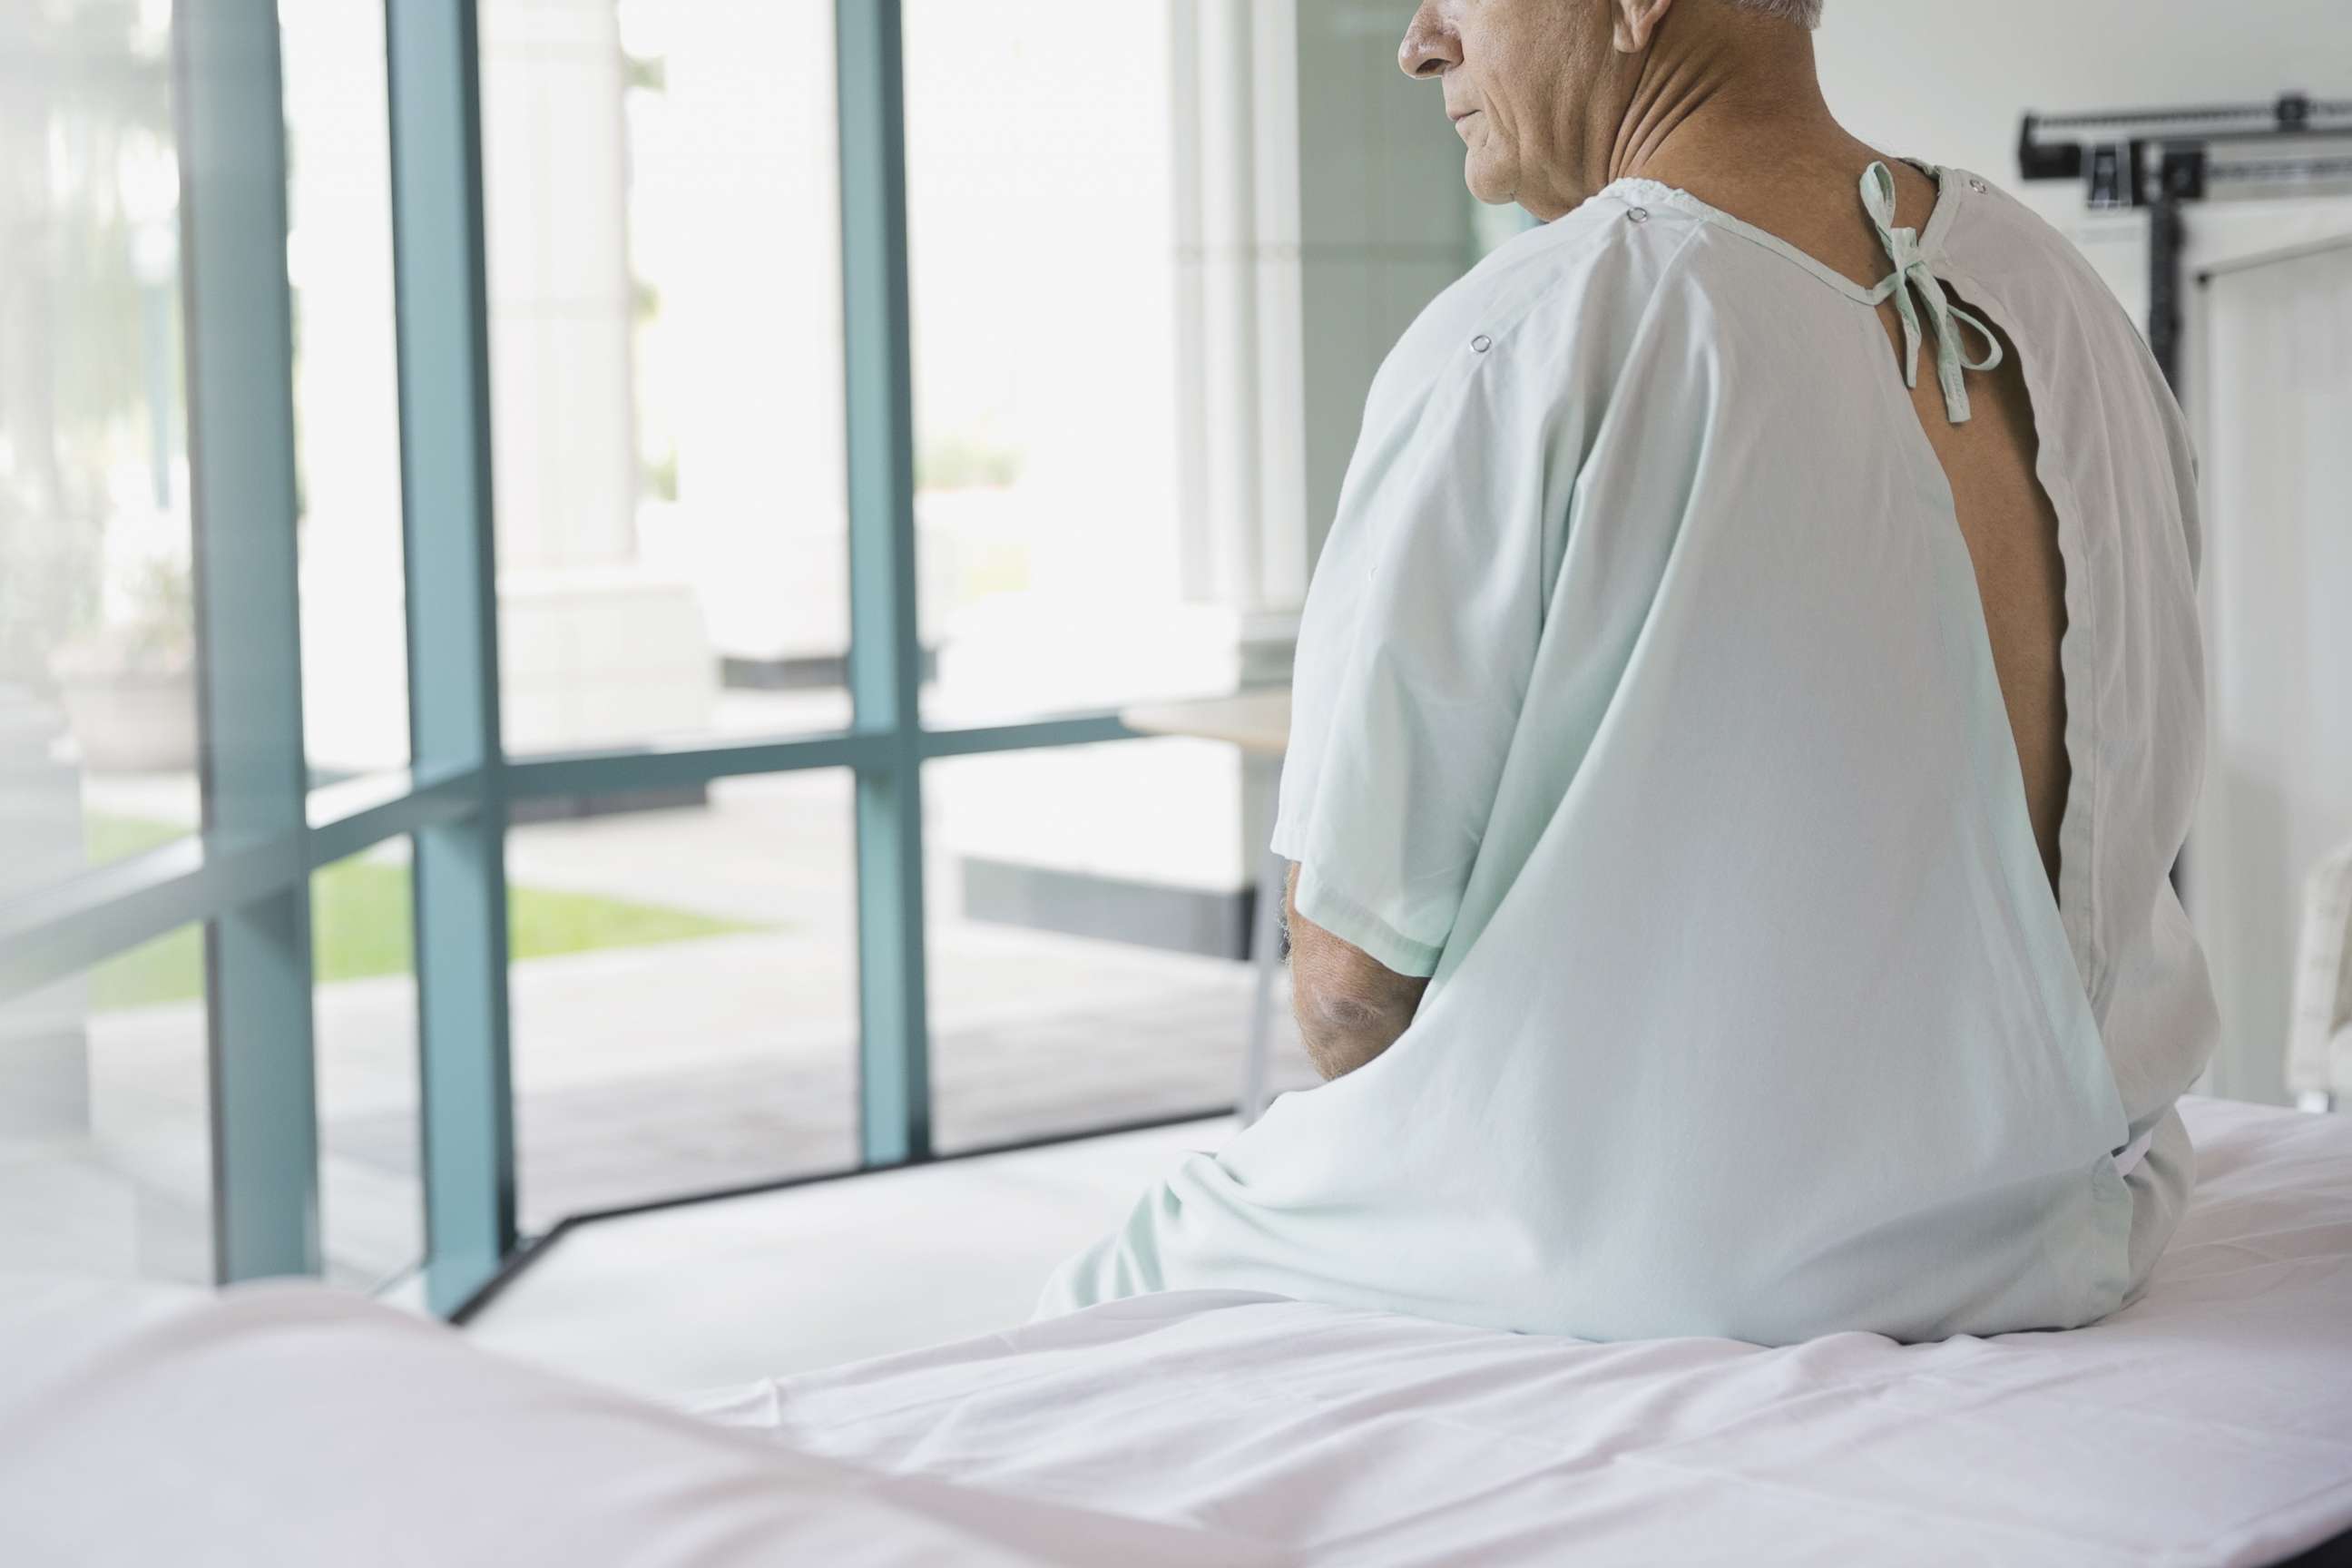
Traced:
<svg viewBox="0 0 2352 1568">
<path fill-rule="evenodd" d="M 155 849 L 183 827 L 134 818 L 87 818 L 92 865 Z M 510 886 L 506 891 L 506 943 L 517 964 L 600 947 L 652 947 L 701 936 L 762 931 L 748 922 L 715 919 L 689 910 Z M 320 985 L 409 973 L 414 924 L 409 867 L 383 860 L 336 860 L 310 875 L 310 971 Z M 183 926 L 146 947 L 134 947 L 89 971 L 89 1004 L 96 1011 L 193 1001 L 205 994 L 205 931 Z"/>
</svg>

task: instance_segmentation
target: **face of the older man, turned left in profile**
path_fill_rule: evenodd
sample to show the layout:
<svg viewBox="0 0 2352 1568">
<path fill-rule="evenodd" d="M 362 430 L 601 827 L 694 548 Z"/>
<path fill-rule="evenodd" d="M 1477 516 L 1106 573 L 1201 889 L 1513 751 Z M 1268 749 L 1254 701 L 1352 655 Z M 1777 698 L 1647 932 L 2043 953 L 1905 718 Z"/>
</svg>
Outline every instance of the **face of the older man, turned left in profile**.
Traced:
<svg viewBox="0 0 2352 1568">
<path fill-rule="evenodd" d="M 1616 63 L 1611 14 L 1611 0 L 1421 0 L 1397 63 L 1444 87 L 1470 195 L 1552 219 L 1592 193 L 1585 127 Z"/>
</svg>

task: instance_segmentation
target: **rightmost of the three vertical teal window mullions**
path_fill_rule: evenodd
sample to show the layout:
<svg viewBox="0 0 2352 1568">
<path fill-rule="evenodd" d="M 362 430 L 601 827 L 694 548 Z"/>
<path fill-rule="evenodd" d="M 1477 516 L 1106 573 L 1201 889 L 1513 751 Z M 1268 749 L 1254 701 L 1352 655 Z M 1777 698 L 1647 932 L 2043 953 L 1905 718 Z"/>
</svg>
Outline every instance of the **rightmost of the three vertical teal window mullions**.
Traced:
<svg viewBox="0 0 2352 1568">
<path fill-rule="evenodd" d="M 931 1154 L 898 0 L 837 0 L 835 47 L 849 425 L 849 693 L 856 729 L 884 741 L 882 755 L 856 771 L 858 1145 L 863 1164 L 894 1166 Z"/>
</svg>

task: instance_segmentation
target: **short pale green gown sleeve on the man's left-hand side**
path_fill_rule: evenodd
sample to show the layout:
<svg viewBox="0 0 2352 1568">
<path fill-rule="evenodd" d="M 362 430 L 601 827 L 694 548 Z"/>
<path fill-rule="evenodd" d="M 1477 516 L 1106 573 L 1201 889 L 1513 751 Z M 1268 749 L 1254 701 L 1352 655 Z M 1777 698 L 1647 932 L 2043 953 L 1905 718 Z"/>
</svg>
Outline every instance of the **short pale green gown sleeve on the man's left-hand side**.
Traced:
<svg viewBox="0 0 2352 1568">
<path fill-rule="evenodd" d="M 1444 952 L 1534 668 L 1531 369 L 1501 339 L 1383 367 L 1298 628 L 1272 849 L 1305 919 L 1402 976 Z"/>
</svg>

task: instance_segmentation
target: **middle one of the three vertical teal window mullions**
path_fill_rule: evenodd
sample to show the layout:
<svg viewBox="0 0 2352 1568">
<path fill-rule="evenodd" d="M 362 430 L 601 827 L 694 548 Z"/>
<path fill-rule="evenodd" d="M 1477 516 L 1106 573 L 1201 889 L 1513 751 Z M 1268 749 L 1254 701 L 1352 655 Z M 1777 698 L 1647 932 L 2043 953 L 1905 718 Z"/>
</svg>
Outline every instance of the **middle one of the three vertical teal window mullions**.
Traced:
<svg viewBox="0 0 2352 1568">
<path fill-rule="evenodd" d="M 383 26 L 409 741 L 475 790 L 416 830 L 426 1302 L 447 1314 L 515 1246 L 480 35 L 473 0 L 388 0 Z"/>
</svg>

